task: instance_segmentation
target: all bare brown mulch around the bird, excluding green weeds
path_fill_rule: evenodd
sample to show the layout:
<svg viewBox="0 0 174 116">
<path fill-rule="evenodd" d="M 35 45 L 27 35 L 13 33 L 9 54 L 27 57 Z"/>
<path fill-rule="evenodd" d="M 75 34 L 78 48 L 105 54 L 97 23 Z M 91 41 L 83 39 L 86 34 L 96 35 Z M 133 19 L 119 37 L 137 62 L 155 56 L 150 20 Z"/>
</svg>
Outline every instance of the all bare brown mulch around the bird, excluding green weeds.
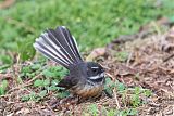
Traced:
<svg viewBox="0 0 174 116">
<path fill-rule="evenodd" d="M 146 99 L 147 103 L 138 107 L 140 116 L 173 116 L 174 28 L 139 34 L 140 36 L 127 36 L 130 38 L 127 39 L 128 41 L 123 40 L 123 37 L 119 38 L 108 44 L 104 50 L 101 48 L 102 52 L 98 52 L 100 49 L 91 52 L 92 56 L 88 59 L 96 59 L 96 53 L 103 55 L 105 52 L 104 56 L 99 56 L 98 60 L 113 80 L 116 79 L 129 88 L 142 87 L 152 91 L 152 95 Z M 124 38 L 127 37 L 124 36 Z M 127 57 L 121 61 L 116 57 L 119 52 L 126 52 Z M 55 114 L 82 116 L 85 111 L 90 112 L 89 106 L 92 103 L 97 104 L 99 113 L 102 106 L 125 108 L 116 90 L 112 99 L 103 94 L 98 100 L 85 100 L 80 103 L 77 103 L 78 98 L 72 100 L 54 98 L 51 91 L 41 102 L 22 102 L 21 98 L 33 91 L 33 88 L 27 87 L 34 80 L 18 85 L 16 82 L 18 70 L 18 64 L 16 64 L 7 74 L 0 74 L 0 81 L 1 77 L 11 81 L 8 93 L 0 98 L 0 116 L 54 116 Z"/>
</svg>

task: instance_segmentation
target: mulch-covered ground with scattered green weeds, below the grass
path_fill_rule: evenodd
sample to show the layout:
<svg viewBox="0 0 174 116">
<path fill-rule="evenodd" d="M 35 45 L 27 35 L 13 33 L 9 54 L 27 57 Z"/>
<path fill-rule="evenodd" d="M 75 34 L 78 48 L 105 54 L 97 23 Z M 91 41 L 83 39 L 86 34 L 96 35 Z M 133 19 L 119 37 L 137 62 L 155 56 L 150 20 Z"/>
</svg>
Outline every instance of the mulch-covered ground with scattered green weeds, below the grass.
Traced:
<svg viewBox="0 0 174 116">
<path fill-rule="evenodd" d="M 36 73 L 34 78 L 24 78 L 18 82 L 15 77 L 21 74 L 22 66 L 33 64 L 26 62 L 15 64 L 1 74 L 3 79 L 11 82 L 8 93 L 0 98 L 1 115 L 173 116 L 174 28 L 165 23 L 150 23 L 138 34 L 122 36 L 86 55 L 90 59 L 94 56 L 107 69 L 110 78 L 107 78 L 105 90 L 112 98 L 103 93 L 98 99 L 79 103 L 77 96 L 55 96 L 58 91 L 47 89 L 51 87 L 47 85 L 47 79 L 42 87 L 36 82 L 49 73 Z M 50 61 L 45 65 L 55 66 Z"/>
</svg>

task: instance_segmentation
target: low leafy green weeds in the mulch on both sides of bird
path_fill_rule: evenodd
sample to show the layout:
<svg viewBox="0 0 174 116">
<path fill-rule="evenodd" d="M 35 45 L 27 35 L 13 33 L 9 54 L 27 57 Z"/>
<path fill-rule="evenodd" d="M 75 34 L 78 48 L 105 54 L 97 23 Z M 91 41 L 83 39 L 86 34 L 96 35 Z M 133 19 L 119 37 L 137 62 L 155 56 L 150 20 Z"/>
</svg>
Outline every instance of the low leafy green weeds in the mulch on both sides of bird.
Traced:
<svg viewBox="0 0 174 116">
<path fill-rule="evenodd" d="M 18 96 L 22 103 L 34 101 L 35 103 L 42 103 L 48 101 L 51 96 L 58 100 L 67 98 L 70 93 L 67 91 L 60 91 L 62 88 L 57 87 L 59 81 L 67 74 L 67 70 L 60 66 L 48 66 L 45 64 L 46 61 L 41 60 L 30 64 L 25 64 L 21 67 L 21 72 L 17 76 L 17 83 L 25 85 L 28 81 L 30 86 L 21 86 L 23 90 L 28 90 Z M 36 78 L 37 77 L 37 78 Z M 8 87 L 8 80 L 3 79 L 0 82 L 0 95 L 5 95 L 8 88 L 12 88 L 13 85 Z M 109 107 L 98 106 L 96 103 L 90 103 L 83 114 L 98 116 L 103 113 L 107 116 L 114 116 L 119 114 L 121 116 L 136 115 L 138 113 L 137 108 L 146 104 L 146 99 L 151 96 L 152 92 L 149 89 L 144 89 L 141 87 L 128 88 L 126 85 L 113 81 L 110 78 L 105 79 L 105 91 L 112 96 L 114 95 L 113 90 L 116 89 L 120 101 L 122 102 L 122 108 L 117 109 L 115 106 Z M 114 96 L 112 98 L 114 101 Z"/>
</svg>

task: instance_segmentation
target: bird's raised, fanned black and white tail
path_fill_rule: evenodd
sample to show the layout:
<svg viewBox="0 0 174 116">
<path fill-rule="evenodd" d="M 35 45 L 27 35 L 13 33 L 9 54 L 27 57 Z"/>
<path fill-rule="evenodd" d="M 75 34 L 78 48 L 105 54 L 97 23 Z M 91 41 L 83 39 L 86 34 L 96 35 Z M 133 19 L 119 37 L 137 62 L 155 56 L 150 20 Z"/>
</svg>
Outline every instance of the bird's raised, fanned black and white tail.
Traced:
<svg viewBox="0 0 174 116">
<path fill-rule="evenodd" d="M 66 68 L 71 64 L 83 61 L 74 37 L 63 26 L 58 27 L 55 30 L 47 29 L 36 39 L 34 47 L 48 59 Z"/>
</svg>

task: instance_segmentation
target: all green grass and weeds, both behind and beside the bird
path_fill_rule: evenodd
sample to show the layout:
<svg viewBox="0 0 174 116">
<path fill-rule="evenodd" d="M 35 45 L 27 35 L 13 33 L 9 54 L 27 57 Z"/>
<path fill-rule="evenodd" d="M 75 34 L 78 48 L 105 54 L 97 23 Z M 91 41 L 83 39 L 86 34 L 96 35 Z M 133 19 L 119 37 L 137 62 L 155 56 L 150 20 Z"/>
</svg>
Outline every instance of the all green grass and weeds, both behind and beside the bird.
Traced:
<svg viewBox="0 0 174 116">
<path fill-rule="evenodd" d="M 35 56 L 33 42 L 46 28 L 65 25 L 76 37 L 80 51 L 103 47 L 120 35 L 134 34 L 139 27 L 159 16 L 174 20 L 171 0 L 16 0 L 9 9 L 0 11 L 0 73 L 14 63 L 23 64 Z M 18 59 L 20 56 L 20 59 Z M 120 62 L 127 59 L 126 52 L 117 52 Z M 34 79 L 32 91 L 21 101 L 44 101 L 49 92 L 57 98 L 65 98 L 67 92 L 58 92 L 57 83 L 67 72 L 58 66 L 46 65 L 46 60 L 20 67 L 18 85 Z M 35 79 L 41 74 L 41 78 Z M 138 74 L 135 78 L 138 78 Z M 112 94 L 117 89 L 125 109 L 102 107 L 108 116 L 136 115 L 137 107 L 145 104 L 142 98 L 151 91 L 140 87 L 127 88 L 125 85 L 107 80 L 105 90 Z M 8 80 L 0 81 L 0 95 L 8 91 Z M 127 94 L 129 94 L 127 96 Z M 128 103 L 127 103 L 128 102 Z M 128 108 L 127 108 L 128 105 Z M 124 107 L 124 106 L 123 106 Z M 98 115 L 98 106 L 89 106 L 89 115 Z"/>
</svg>

